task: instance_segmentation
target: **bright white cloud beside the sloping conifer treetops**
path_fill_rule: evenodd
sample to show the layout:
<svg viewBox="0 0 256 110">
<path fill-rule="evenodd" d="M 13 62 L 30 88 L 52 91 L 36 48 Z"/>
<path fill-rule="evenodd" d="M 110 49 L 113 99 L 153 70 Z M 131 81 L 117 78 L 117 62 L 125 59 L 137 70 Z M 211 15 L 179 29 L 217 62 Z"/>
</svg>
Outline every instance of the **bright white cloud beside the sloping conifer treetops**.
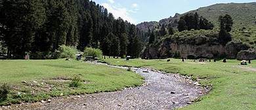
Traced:
<svg viewBox="0 0 256 110">
<path fill-rule="evenodd" d="M 115 7 L 108 3 L 102 3 L 102 6 L 106 9 L 108 9 L 108 12 L 111 12 L 115 18 L 121 17 L 121 18 L 123 18 L 123 20 L 127 20 L 128 22 L 131 22 L 132 24 L 134 24 L 136 21 L 129 14 L 129 12 L 131 12 L 131 10 L 127 10 L 122 7 Z"/>
</svg>

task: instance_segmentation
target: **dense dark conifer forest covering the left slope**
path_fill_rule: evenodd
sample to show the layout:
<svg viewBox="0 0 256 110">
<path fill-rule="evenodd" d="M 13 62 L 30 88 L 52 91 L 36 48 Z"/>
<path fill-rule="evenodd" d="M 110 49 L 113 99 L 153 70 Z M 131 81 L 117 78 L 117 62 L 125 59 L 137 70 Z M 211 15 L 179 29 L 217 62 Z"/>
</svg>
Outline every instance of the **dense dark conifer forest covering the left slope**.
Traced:
<svg viewBox="0 0 256 110">
<path fill-rule="evenodd" d="M 89 0 L 1 0 L 0 41 L 9 58 L 51 57 L 60 45 L 139 57 L 140 29 Z"/>
</svg>

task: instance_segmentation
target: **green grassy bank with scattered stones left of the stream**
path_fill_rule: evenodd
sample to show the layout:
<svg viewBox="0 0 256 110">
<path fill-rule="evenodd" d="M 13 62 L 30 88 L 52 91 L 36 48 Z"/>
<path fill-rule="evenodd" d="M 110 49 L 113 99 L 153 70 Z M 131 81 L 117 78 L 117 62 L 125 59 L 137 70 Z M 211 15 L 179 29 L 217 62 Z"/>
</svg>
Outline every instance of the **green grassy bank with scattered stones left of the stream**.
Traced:
<svg viewBox="0 0 256 110">
<path fill-rule="evenodd" d="M 78 87 L 70 87 L 74 76 L 81 79 Z M 143 83 L 143 77 L 125 69 L 63 59 L 0 60 L 0 77 L 0 85 L 11 86 L 7 101 L 0 105 L 115 91 Z"/>
</svg>

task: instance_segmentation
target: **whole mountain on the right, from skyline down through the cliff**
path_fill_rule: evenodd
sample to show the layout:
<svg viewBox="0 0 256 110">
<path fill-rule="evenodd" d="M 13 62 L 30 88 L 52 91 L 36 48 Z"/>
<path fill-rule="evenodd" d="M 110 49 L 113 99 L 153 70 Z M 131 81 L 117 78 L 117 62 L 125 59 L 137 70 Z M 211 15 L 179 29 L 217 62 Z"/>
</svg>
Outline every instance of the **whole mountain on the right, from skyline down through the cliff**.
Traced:
<svg viewBox="0 0 256 110">
<path fill-rule="evenodd" d="M 175 30 L 174 35 L 159 35 L 161 26 L 177 27 L 181 16 L 188 13 L 197 12 L 215 27 L 212 30 Z M 224 40 L 219 36 L 219 16 L 229 14 L 233 21 L 232 31 Z M 197 58 L 237 58 L 240 60 L 256 59 L 256 3 L 221 3 L 196 10 L 188 11 L 184 14 L 175 14 L 160 20 L 159 22 L 143 22 L 138 24 L 144 33 L 150 28 L 158 36 L 154 43 L 147 44 L 142 50 L 142 58 L 171 58 L 183 57 L 190 59 Z M 152 25 L 154 23 L 154 25 Z M 150 24 L 150 25 L 148 25 Z M 147 35 L 147 34 L 145 34 Z M 224 42 L 223 42 L 224 41 Z M 179 56 L 179 57 L 177 57 Z M 245 58 L 245 57 L 246 58 Z"/>
</svg>

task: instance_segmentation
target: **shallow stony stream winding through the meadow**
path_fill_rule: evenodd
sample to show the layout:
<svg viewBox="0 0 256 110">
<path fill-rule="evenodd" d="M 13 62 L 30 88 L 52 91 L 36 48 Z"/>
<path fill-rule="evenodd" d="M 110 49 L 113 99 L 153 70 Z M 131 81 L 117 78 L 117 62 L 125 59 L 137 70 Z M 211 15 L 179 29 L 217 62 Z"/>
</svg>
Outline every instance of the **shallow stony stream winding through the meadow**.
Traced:
<svg viewBox="0 0 256 110">
<path fill-rule="evenodd" d="M 127 67 L 122 67 L 126 68 Z M 175 109 L 207 93 L 205 88 L 175 74 L 146 68 L 131 68 L 143 77 L 145 84 L 117 92 L 55 98 L 51 103 L 37 102 L 12 105 L 9 109 Z"/>
</svg>

